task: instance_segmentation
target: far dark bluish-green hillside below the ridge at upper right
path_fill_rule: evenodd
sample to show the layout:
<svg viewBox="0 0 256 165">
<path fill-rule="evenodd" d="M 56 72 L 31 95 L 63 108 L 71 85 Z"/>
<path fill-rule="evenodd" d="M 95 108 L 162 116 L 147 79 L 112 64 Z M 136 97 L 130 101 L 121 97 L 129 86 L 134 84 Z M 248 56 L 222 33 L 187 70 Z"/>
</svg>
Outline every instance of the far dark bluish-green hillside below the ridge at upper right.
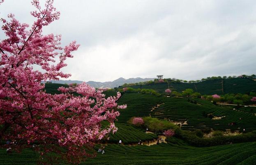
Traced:
<svg viewBox="0 0 256 165">
<path fill-rule="evenodd" d="M 197 83 L 182 83 L 182 82 L 163 82 L 155 84 L 142 84 L 130 86 L 131 88 L 154 89 L 158 93 L 164 94 L 164 90 L 171 88 L 178 92 L 182 92 L 187 88 L 193 89 L 201 95 L 223 95 L 227 93 L 249 93 L 256 92 L 256 81 L 246 78 L 232 79 L 212 79 Z"/>
</svg>

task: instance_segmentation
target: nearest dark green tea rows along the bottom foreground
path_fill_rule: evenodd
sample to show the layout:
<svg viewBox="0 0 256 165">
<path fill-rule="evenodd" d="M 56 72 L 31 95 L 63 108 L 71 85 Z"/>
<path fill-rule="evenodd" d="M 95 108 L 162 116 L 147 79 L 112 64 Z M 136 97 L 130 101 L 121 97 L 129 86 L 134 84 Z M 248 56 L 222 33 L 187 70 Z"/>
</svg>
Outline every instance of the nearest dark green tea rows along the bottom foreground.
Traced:
<svg viewBox="0 0 256 165">
<path fill-rule="evenodd" d="M 215 147 L 191 147 L 178 140 L 153 146 L 108 145 L 105 154 L 98 154 L 82 164 L 101 165 L 160 165 L 160 164 L 212 164 L 248 165 L 256 161 L 256 142 Z"/>
</svg>

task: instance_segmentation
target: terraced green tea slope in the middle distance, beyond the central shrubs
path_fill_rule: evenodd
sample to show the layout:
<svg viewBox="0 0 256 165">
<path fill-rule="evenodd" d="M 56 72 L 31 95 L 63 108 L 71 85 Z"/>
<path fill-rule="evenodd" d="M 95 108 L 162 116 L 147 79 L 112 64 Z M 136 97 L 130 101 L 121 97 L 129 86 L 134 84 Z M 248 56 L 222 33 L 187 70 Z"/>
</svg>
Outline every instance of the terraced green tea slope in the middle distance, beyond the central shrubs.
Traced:
<svg viewBox="0 0 256 165">
<path fill-rule="evenodd" d="M 254 113 L 234 111 L 232 108 L 215 106 L 211 102 L 196 99 L 198 104 L 192 104 L 187 98 L 164 97 L 140 93 L 125 93 L 119 100 L 120 104 L 127 104 L 127 109 L 121 112 L 118 122 L 126 122 L 132 116 L 152 116 L 159 119 L 185 122 L 182 129 L 226 129 L 241 131 L 256 130 L 256 116 Z M 152 108 L 154 106 L 154 110 Z M 218 118 L 208 118 L 203 114 L 212 114 Z M 240 120 L 241 118 L 241 120 Z M 218 119 L 218 120 L 215 120 Z M 231 123 L 234 123 L 232 125 Z"/>
</svg>

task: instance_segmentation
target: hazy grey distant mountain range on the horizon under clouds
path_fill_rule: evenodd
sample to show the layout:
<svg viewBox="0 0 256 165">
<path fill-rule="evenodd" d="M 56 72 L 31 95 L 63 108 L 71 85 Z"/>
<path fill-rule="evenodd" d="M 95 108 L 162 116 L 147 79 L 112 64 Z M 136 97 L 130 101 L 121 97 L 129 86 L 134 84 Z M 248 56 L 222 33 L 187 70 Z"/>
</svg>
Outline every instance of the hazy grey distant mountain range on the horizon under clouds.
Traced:
<svg viewBox="0 0 256 165">
<path fill-rule="evenodd" d="M 94 88 L 115 88 L 118 86 L 121 86 L 125 83 L 137 83 L 137 82 L 143 82 L 143 81 L 150 81 L 154 80 L 155 78 L 129 78 L 129 79 L 124 79 L 120 77 L 119 79 L 116 79 L 114 81 L 106 81 L 106 82 L 97 82 L 97 81 L 88 81 L 86 82 L 90 86 L 93 86 Z M 58 81 L 51 81 L 52 83 L 58 83 L 58 84 L 81 84 L 83 81 L 78 81 L 78 80 L 58 80 Z"/>
</svg>

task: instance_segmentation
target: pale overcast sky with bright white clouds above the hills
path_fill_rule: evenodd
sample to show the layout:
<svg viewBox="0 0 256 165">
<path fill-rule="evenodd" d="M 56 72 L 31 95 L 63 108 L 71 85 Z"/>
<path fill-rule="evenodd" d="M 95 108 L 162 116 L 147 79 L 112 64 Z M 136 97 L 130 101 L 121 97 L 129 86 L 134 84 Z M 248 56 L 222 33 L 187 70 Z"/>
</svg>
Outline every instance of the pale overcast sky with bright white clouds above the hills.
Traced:
<svg viewBox="0 0 256 165">
<path fill-rule="evenodd" d="M 55 0 L 54 6 L 60 19 L 44 34 L 62 34 L 63 46 L 81 44 L 63 69 L 69 79 L 256 74 L 255 0 Z M 32 10 L 30 0 L 5 0 L 0 17 L 13 13 L 31 25 Z"/>
</svg>

